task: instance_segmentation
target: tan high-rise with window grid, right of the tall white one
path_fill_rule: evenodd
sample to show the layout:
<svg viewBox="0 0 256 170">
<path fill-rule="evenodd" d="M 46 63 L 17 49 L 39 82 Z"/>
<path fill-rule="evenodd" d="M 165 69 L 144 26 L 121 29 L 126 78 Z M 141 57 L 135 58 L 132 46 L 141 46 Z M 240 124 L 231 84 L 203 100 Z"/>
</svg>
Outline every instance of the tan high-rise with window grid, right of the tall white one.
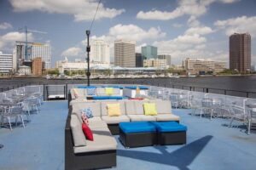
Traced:
<svg viewBox="0 0 256 170">
<path fill-rule="evenodd" d="M 114 65 L 122 67 L 135 67 L 136 42 L 128 40 L 114 41 Z"/>
</svg>

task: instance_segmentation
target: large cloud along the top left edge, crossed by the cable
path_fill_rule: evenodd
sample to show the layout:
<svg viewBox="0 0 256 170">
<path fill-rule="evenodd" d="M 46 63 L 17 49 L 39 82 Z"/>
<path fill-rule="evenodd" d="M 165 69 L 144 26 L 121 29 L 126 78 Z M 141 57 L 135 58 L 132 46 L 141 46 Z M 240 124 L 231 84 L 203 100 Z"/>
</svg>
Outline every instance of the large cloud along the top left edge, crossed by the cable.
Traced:
<svg viewBox="0 0 256 170">
<path fill-rule="evenodd" d="M 15 12 L 42 11 L 56 14 L 73 14 L 74 20 L 92 20 L 98 2 L 96 0 L 9 0 Z M 125 9 L 106 8 L 100 3 L 96 20 L 114 18 L 125 12 Z"/>
</svg>

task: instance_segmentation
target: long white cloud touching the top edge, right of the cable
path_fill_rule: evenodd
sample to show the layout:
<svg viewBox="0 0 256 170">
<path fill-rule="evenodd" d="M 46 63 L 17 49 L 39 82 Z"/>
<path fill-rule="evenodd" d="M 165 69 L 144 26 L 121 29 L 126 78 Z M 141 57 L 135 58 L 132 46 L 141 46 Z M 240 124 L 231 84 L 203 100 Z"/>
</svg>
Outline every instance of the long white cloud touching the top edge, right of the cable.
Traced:
<svg viewBox="0 0 256 170">
<path fill-rule="evenodd" d="M 141 20 L 173 20 L 185 14 L 199 17 L 206 14 L 208 7 L 212 3 L 234 3 L 236 0 L 180 0 L 177 1 L 178 5 L 172 12 L 150 10 L 147 12 L 139 11 L 137 19 Z"/>
</svg>

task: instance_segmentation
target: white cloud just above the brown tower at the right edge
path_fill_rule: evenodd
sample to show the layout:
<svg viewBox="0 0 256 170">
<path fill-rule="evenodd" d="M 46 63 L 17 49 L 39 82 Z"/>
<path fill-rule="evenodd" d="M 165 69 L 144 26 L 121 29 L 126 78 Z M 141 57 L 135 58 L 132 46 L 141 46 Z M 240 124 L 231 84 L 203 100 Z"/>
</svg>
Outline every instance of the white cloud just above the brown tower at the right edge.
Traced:
<svg viewBox="0 0 256 170">
<path fill-rule="evenodd" d="M 252 37 L 256 37 L 256 16 L 241 16 L 228 20 L 217 20 L 214 26 L 217 26 L 220 30 L 224 30 L 227 36 L 235 32 L 248 32 Z"/>
</svg>

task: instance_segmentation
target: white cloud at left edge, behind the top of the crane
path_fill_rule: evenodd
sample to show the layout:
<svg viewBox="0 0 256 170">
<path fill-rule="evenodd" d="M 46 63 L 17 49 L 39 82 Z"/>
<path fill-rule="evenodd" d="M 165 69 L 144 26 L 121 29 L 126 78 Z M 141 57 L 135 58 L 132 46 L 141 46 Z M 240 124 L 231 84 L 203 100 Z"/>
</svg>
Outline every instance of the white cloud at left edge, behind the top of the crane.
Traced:
<svg viewBox="0 0 256 170">
<path fill-rule="evenodd" d="M 12 31 L 0 36 L 0 48 L 14 48 L 16 41 L 25 41 L 26 34 L 24 32 Z M 32 33 L 27 33 L 27 40 L 33 41 Z"/>
</svg>

